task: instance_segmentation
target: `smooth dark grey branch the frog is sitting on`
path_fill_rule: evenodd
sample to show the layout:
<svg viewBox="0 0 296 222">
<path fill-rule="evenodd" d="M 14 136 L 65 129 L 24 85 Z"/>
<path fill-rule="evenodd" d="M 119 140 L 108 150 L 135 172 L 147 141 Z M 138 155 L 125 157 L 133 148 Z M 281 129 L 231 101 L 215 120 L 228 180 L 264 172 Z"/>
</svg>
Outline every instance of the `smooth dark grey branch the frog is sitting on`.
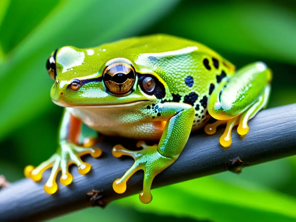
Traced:
<svg viewBox="0 0 296 222">
<path fill-rule="evenodd" d="M 223 130 L 207 136 L 202 131 L 194 132 L 176 162 L 160 173 L 152 187 L 186 181 L 192 178 L 220 173 L 225 170 L 239 171 L 242 165 L 255 165 L 296 154 L 296 104 L 263 110 L 250 121 L 250 131 L 241 139 L 234 131 L 232 145 L 223 150 L 219 137 Z M 117 159 L 112 156 L 113 145 L 121 143 L 125 147 L 135 147 L 135 141 L 106 137 L 99 143 L 104 154 L 99 159 L 83 158 L 91 163 L 92 172 L 80 175 L 70 168 L 74 181 L 63 186 L 58 181 L 57 194 L 48 195 L 43 191 L 49 170 L 44 180 L 35 183 L 22 179 L 0 191 L 0 221 L 41 221 L 93 204 L 87 193 L 93 189 L 102 191 L 96 204 L 106 205 L 112 200 L 139 193 L 142 189 L 143 172 L 137 172 L 127 183 L 124 194 L 116 194 L 112 183 L 120 178 L 133 164 L 132 158 Z M 59 175 L 58 177 L 59 178 Z M 95 194 L 95 193 L 93 193 Z M 153 195 L 153 191 L 152 191 Z M 153 201 L 153 200 L 152 200 Z M 139 204 L 141 202 L 139 201 Z"/>
</svg>

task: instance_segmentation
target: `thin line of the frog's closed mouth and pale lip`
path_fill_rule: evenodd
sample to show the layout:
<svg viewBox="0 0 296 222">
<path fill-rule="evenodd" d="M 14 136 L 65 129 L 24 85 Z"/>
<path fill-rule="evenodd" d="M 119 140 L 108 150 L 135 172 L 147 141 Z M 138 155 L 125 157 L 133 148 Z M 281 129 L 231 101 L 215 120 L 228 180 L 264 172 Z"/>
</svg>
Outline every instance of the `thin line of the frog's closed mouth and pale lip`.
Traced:
<svg viewBox="0 0 296 222">
<path fill-rule="evenodd" d="M 63 103 L 63 102 L 57 102 L 52 100 L 55 104 L 62 107 L 70 107 L 70 108 L 79 108 L 79 109 L 119 109 L 124 107 L 131 107 L 135 105 L 142 104 L 144 102 L 149 102 L 149 100 L 139 100 L 136 102 L 128 102 L 128 103 L 122 103 L 122 104 L 106 104 L 106 105 L 81 105 L 81 106 L 71 106 L 69 104 Z"/>
</svg>

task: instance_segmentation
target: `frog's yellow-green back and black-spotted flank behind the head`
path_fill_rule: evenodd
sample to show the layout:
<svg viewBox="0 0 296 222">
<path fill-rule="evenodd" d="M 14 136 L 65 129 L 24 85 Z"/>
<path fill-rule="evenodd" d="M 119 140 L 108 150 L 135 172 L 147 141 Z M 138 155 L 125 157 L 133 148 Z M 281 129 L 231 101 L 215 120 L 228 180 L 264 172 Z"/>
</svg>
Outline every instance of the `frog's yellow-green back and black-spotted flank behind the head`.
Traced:
<svg viewBox="0 0 296 222">
<path fill-rule="evenodd" d="M 193 129 L 208 119 L 207 100 L 234 65 L 198 42 L 157 34 L 123 39 L 100 46 L 104 53 L 134 61 L 139 73 L 155 75 L 165 87 L 160 102 L 187 103 L 195 109 Z"/>
</svg>

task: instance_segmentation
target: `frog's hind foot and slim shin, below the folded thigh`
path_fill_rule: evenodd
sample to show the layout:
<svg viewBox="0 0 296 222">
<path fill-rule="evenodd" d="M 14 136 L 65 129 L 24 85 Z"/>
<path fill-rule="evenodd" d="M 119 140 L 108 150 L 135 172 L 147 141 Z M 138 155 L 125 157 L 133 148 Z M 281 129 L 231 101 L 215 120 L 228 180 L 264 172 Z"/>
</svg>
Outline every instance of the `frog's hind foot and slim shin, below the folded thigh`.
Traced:
<svg viewBox="0 0 296 222">
<path fill-rule="evenodd" d="M 248 121 L 252 119 L 260 110 L 264 109 L 268 102 L 270 88 L 267 87 L 265 92 L 258 98 L 258 100 L 250 106 L 241 115 L 229 120 L 217 120 L 215 123 L 210 123 L 205 126 L 205 132 L 212 135 L 216 132 L 218 126 L 226 124 L 225 131 L 220 137 L 219 142 L 223 147 L 229 147 L 232 143 L 231 131 L 234 126 L 237 127 L 237 133 L 241 136 L 249 132 Z"/>
</svg>

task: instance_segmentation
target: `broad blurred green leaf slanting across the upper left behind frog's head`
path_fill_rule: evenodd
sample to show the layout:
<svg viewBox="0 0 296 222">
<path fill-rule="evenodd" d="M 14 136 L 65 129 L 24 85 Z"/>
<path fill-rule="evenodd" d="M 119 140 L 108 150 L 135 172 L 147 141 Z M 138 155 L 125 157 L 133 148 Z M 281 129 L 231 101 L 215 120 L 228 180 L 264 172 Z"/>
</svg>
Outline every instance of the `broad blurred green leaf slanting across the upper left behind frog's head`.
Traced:
<svg viewBox="0 0 296 222">
<path fill-rule="evenodd" d="M 43 22 L 10 52 L 9 61 L 0 67 L 3 70 L 0 72 L 0 79 L 6 83 L 1 91 L 0 115 L 5 118 L 0 125 L 0 139 L 16 126 L 53 105 L 49 96 L 52 81 L 46 73 L 45 61 L 54 49 L 63 45 L 91 47 L 135 35 L 172 8 L 176 2 L 60 2 Z M 35 6 L 31 6 L 33 12 Z M 123 17 L 123 14 L 127 16 Z"/>
</svg>

